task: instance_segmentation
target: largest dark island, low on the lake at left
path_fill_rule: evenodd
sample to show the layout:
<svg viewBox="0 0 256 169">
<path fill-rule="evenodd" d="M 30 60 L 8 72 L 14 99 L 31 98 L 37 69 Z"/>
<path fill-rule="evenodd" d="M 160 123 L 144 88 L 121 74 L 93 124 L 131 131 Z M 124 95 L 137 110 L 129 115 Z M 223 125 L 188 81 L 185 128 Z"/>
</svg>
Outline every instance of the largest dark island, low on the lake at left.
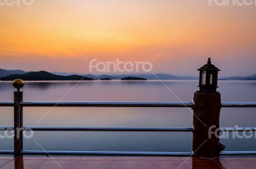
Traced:
<svg viewBox="0 0 256 169">
<path fill-rule="evenodd" d="M 17 78 L 26 81 L 43 81 L 43 80 L 93 80 L 93 78 L 83 77 L 79 75 L 70 75 L 70 76 L 61 76 L 61 75 L 54 75 L 47 71 L 31 71 L 26 74 L 15 74 L 9 75 L 6 77 L 2 77 L 2 81 L 12 81 Z"/>
</svg>

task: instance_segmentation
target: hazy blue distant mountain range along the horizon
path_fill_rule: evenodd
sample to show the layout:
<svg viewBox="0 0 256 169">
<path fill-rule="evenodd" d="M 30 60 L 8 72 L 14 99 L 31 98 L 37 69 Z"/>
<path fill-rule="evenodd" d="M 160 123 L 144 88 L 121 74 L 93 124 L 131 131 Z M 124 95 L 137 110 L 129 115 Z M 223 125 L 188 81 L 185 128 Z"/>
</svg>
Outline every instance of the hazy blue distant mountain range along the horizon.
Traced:
<svg viewBox="0 0 256 169">
<path fill-rule="evenodd" d="M 32 74 L 29 74 L 29 76 L 30 76 L 30 75 L 33 75 L 33 72 L 34 71 L 0 69 L 0 78 L 10 76 L 10 75 L 19 75 L 19 77 L 21 77 L 20 75 L 24 75 L 26 73 L 32 73 Z M 42 74 L 42 75 L 44 74 L 48 78 L 51 78 L 51 77 L 53 78 L 52 75 L 57 75 L 56 77 L 54 77 L 57 79 L 65 78 L 65 79 L 76 80 L 77 78 L 80 78 L 80 77 L 82 78 L 84 76 L 84 74 L 82 74 L 82 73 L 67 73 L 67 72 L 59 72 L 59 71 L 54 71 L 51 73 L 47 72 L 47 71 L 40 71 L 40 72 L 41 73 L 39 73 L 39 74 Z M 49 75 L 47 73 L 50 73 L 51 75 Z M 198 80 L 198 77 L 170 75 L 170 74 L 166 74 L 166 73 L 156 73 L 156 76 L 161 80 Z M 130 73 L 130 74 L 125 74 L 125 75 L 92 75 L 92 74 L 88 74 L 88 75 L 86 75 L 86 78 L 93 78 L 95 80 L 100 80 L 102 78 L 120 80 L 125 77 L 140 77 L 140 78 L 146 78 L 147 80 L 157 80 L 156 76 L 153 74 L 145 74 L 145 73 L 140 73 L 140 74 Z M 17 76 L 12 76 L 12 78 L 13 77 L 17 77 Z M 8 78 L 10 78 L 10 77 L 8 77 Z M 23 78 L 28 78 L 28 77 L 24 76 Z M 40 77 L 40 78 L 43 78 L 43 77 Z M 24 79 L 24 80 L 26 80 L 26 79 Z M 225 78 L 220 78 L 220 80 L 256 80 L 256 74 L 248 76 L 248 77 L 225 77 Z"/>
</svg>

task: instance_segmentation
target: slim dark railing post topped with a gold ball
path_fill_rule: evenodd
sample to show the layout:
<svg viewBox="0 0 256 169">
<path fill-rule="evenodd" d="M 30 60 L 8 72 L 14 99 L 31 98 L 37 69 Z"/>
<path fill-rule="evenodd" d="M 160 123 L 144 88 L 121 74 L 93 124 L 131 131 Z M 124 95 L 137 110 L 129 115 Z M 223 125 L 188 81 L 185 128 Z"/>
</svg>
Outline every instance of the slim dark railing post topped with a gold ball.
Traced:
<svg viewBox="0 0 256 169">
<path fill-rule="evenodd" d="M 20 130 L 23 127 L 23 108 L 20 107 L 20 102 L 23 101 L 23 92 L 20 89 L 24 82 L 20 79 L 13 81 L 13 87 L 17 89 L 14 92 L 14 158 L 22 157 L 23 150 L 23 134 Z"/>
</svg>

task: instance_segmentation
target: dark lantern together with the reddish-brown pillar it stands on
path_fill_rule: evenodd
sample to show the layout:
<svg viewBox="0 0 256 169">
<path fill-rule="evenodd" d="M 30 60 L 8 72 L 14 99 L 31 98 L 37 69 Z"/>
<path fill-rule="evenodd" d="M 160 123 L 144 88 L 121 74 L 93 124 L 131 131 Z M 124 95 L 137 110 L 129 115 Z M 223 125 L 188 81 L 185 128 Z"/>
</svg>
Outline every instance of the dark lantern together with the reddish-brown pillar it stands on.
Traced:
<svg viewBox="0 0 256 169">
<path fill-rule="evenodd" d="M 198 69 L 200 90 L 194 94 L 193 153 L 203 158 L 218 158 L 225 145 L 220 143 L 221 94 L 218 88 L 218 68 L 211 63 Z"/>
</svg>

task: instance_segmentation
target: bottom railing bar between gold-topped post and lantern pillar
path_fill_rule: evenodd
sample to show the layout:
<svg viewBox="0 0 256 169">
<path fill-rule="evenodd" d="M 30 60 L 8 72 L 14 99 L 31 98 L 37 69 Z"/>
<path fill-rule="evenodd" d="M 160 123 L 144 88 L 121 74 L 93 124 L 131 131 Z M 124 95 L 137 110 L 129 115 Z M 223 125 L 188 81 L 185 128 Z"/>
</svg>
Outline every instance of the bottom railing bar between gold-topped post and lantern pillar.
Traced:
<svg viewBox="0 0 256 169">
<path fill-rule="evenodd" d="M 119 152 L 119 151 L 22 151 L 24 155 L 92 155 L 92 156 L 191 156 L 191 152 Z"/>
</svg>

